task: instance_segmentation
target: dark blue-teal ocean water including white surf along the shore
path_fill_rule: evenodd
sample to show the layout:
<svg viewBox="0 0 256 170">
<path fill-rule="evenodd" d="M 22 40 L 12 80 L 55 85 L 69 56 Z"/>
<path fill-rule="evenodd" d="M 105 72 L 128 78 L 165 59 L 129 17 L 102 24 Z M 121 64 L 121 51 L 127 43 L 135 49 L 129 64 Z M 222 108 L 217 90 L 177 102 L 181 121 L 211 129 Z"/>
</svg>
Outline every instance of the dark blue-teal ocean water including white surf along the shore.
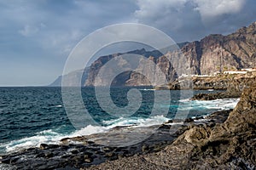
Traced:
<svg viewBox="0 0 256 170">
<path fill-rule="evenodd" d="M 128 105 L 127 92 L 130 89 L 111 88 L 113 103 L 120 108 Z M 58 144 L 62 138 L 104 133 L 113 127 L 157 125 L 173 119 L 177 113 L 189 113 L 188 117 L 206 116 L 213 111 L 232 109 L 239 101 L 191 101 L 191 91 L 183 91 L 182 95 L 180 91 L 171 91 L 171 102 L 159 99 L 156 104 L 160 109 L 167 108 L 168 114 L 163 115 L 159 110 L 159 113 L 152 116 L 150 113 L 155 102 L 154 90 L 138 89 L 143 99 L 139 109 L 130 116 L 119 116 L 118 113 L 111 115 L 102 109 L 97 102 L 94 88 L 82 88 L 84 105 L 98 125 L 84 124 L 84 127 L 76 129 L 65 111 L 61 88 L 0 88 L 0 154 L 35 147 L 41 143 Z M 192 93 L 216 91 L 195 90 Z M 76 109 L 73 108 L 74 111 Z"/>
</svg>

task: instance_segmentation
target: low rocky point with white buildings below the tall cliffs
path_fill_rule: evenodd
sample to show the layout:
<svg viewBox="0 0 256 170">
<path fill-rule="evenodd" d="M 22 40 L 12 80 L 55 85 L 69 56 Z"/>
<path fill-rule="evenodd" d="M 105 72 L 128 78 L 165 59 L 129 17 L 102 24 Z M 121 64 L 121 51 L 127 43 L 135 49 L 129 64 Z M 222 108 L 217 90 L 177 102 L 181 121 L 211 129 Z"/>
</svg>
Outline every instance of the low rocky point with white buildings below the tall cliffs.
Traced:
<svg viewBox="0 0 256 170">
<path fill-rule="evenodd" d="M 217 76 L 188 76 L 179 77 L 176 81 L 166 85 L 155 87 L 156 90 L 224 90 L 224 94 L 219 94 L 219 99 L 237 98 L 241 96 L 243 88 L 256 81 L 256 71 L 246 74 L 219 74 Z M 222 97 L 223 95 L 223 97 Z M 207 96 L 195 96 L 195 99 L 207 99 Z M 209 99 L 217 99 L 214 95 Z"/>
</svg>

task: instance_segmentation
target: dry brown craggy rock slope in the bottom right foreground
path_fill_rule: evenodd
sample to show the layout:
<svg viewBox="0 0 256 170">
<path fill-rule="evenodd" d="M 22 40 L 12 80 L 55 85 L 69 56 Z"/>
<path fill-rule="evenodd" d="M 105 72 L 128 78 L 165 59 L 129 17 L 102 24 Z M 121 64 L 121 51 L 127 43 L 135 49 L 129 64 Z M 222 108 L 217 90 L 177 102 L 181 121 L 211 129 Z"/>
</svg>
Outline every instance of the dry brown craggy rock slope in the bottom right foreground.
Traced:
<svg viewBox="0 0 256 170">
<path fill-rule="evenodd" d="M 255 169 L 256 84 L 245 88 L 224 123 L 189 127 L 157 153 L 104 162 L 89 169 Z"/>
</svg>

